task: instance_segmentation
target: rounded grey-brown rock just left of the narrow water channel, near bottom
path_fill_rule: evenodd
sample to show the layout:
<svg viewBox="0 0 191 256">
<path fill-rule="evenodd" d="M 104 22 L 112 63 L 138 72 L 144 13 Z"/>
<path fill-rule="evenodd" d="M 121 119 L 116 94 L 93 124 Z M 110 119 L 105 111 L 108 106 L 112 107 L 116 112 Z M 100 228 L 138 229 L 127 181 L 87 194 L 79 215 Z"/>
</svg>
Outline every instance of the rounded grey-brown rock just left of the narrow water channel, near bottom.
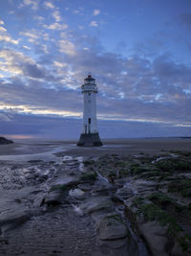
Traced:
<svg viewBox="0 0 191 256">
<path fill-rule="evenodd" d="M 98 227 L 100 240 L 116 240 L 127 237 L 127 235 L 127 227 L 117 214 L 108 215 L 100 221 Z"/>
</svg>

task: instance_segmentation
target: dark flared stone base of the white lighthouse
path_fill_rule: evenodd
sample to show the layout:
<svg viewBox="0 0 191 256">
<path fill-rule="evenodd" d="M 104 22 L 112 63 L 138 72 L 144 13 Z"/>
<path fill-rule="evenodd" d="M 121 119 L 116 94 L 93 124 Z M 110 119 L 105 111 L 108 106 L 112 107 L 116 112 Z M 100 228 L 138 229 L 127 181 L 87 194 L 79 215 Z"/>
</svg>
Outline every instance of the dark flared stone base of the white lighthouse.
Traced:
<svg viewBox="0 0 191 256">
<path fill-rule="evenodd" d="M 81 133 L 77 146 L 82 147 L 99 147 L 103 146 L 97 133 Z"/>
</svg>

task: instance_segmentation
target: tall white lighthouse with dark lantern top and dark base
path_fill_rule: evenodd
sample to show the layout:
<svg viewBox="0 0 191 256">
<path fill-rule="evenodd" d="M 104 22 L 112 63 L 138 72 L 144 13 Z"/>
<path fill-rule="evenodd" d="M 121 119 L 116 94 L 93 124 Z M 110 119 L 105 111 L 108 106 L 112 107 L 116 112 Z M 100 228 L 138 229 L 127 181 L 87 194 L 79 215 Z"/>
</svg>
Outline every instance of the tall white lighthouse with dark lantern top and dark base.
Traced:
<svg viewBox="0 0 191 256">
<path fill-rule="evenodd" d="M 102 146 L 96 125 L 96 80 L 89 74 L 81 85 L 83 94 L 83 127 L 77 146 Z"/>
</svg>

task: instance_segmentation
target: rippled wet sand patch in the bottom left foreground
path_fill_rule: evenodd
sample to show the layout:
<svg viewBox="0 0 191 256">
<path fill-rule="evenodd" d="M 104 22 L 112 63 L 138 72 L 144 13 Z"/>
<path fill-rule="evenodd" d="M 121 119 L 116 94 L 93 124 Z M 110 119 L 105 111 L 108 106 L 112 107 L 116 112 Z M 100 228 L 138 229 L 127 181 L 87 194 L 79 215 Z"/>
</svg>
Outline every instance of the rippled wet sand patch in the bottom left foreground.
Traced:
<svg viewBox="0 0 191 256">
<path fill-rule="evenodd" d="M 69 206 L 32 217 L 5 238 L 0 255 L 89 256 L 98 247 L 91 217 L 79 217 Z"/>
</svg>

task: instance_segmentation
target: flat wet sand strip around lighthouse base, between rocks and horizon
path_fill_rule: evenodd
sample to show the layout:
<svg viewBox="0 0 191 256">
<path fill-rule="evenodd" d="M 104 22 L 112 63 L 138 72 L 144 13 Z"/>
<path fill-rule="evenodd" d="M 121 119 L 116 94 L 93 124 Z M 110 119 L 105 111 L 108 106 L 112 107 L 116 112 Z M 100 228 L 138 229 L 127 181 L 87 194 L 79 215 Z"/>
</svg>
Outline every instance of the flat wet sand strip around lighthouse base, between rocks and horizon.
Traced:
<svg viewBox="0 0 191 256">
<path fill-rule="evenodd" d="M 141 152 L 158 154 L 161 151 L 191 151 L 191 139 L 186 138 L 108 139 L 103 140 L 103 147 L 97 148 L 76 147 L 75 145 L 76 141 L 15 140 L 14 144 L 0 146 L 0 156 L 49 151 L 51 153 L 65 151 L 66 154 L 78 156 L 100 156 L 106 153 L 131 155 Z"/>
</svg>

